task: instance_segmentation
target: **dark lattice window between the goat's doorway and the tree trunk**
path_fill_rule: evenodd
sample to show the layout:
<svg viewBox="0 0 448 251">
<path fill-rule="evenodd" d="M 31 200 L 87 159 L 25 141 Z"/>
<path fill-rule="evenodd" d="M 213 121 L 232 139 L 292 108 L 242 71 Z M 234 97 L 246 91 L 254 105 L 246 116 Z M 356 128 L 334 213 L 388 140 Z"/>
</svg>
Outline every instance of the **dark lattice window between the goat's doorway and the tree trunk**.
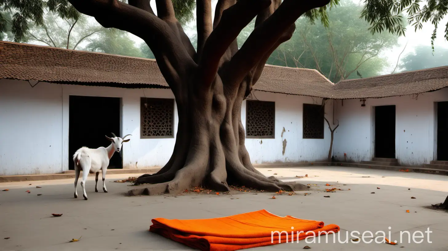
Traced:
<svg viewBox="0 0 448 251">
<path fill-rule="evenodd" d="M 173 138 L 174 100 L 140 100 L 140 138 Z"/>
</svg>

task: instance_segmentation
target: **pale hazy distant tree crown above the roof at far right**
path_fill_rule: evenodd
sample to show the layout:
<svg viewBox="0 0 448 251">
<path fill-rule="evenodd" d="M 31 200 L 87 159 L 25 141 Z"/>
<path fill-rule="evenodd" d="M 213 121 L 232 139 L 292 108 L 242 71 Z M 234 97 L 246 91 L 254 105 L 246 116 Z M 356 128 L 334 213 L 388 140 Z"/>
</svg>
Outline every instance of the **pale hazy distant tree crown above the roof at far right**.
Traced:
<svg viewBox="0 0 448 251">
<path fill-rule="evenodd" d="M 434 54 L 431 52 L 430 46 L 420 45 L 402 58 L 400 67 L 411 71 L 448 65 L 448 48 L 438 48 Z"/>
</svg>

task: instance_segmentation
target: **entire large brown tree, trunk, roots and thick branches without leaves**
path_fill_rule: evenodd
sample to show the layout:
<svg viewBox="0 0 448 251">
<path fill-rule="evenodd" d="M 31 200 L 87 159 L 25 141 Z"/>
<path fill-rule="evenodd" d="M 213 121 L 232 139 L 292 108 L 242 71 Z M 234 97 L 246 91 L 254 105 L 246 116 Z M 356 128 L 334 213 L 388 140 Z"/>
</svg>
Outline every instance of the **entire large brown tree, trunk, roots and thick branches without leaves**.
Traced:
<svg viewBox="0 0 448 251">
<path fill-rule="evenodd" d="M 177 104 L 178 131 L 168 163 L 138 177 L 129 195 L 178 193 L 193 186 L 228 191 L 229 185 L 259 190 L 293 190 L 267 178 L 251 164 L 241 123 L 241 104 L 270 54 L 291 38 L 303 13 L 329 0 L 197 0 L 198 50 L 174 16 L 171 0 L 69 0 L 104 27 L 145 40 Z M 256 17 L 255 29 L 238 50 L 237 36 Z"/>
</svg>

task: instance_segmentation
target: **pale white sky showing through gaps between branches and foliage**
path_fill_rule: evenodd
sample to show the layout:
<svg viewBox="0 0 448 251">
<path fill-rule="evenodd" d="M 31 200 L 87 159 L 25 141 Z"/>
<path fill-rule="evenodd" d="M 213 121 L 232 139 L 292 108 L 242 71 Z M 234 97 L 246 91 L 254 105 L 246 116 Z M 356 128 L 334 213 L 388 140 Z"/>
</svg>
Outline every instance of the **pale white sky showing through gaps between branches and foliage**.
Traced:
<svg viewBox="0 0 448 251">
<path fill-rule="evenodd" d="M 354 3 L 362 4 L 364 0 L 352 0 Z M 212 0 L 212 8 L 215 9 L 215 5 L 217 3 L 217 0 Z M 424 5 L 425 2 L 422 3 Z M 157 8 L 155 6 L 155 1 L 151 1 L 152 9 L 155 13 L 157 13 Z M 336 8 L 342 8 L 342 7 L 336 7 Z M 195 12 L 194 12 L 195 13 Z M 214 13 L 214 11 L 212 12 Z M 214 16 L 214 15 L 213 15 Z M 439 28 L 437 30 L 437 38 L 435 39 L 434 48 L 435 52 L 437 53 L 437 48 L 448 48 L 448 41 L 444 38 L 444 29 L 445 24 L 448 22 L 448 17 L 445 17 L 439 24 Z M 194 26 L 195 21 L 191 22 L 187 27 L 184 27 L 187 35 L 192 35 L 196 33 L 195 30 L 192 29 Z M 403 51 L 403 53 L 400 56 L 400 59 L 403 58 L 406 54 L 414 52 L 414 48 L 416 48 L 418 45 L 425 45 L 428 47 L 431 47 L 431 35 L 432 31 L 434 30 L 434 25 L 431 24 L 431 22 L 427 22 L 423 25 L 423 28 L 421 30 L 414 30 L 413 26 L 408 26 L 406 29 L 406 33 L 404 37 L 399 38 L 399 45 L 395 48 L 392 48 L 390 51 L 385 51 L 380 56 L 386 57 L 389 62 L 389 67 L 384 69 L 383 74 L 390 74 L 392 73 L 393 69 L 395 68 L 396 62 L 398 60 L 398 56 L 400 55 L 401 51 L 403 51 L 403 48 L 406 48 Z M 138 37 L 132 35 L 133 38 L 137 43 L 141 43 L 142 40 Z"/>
</svg>

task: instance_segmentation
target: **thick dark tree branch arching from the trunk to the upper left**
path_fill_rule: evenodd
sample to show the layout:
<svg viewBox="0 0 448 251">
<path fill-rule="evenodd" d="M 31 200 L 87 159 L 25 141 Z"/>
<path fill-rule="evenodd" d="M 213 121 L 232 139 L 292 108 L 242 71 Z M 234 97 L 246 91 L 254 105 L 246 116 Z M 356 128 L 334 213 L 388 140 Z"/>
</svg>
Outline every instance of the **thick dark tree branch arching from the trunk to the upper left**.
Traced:
<svg viewBox="0 0 448 251">
<path fill-rule="evenodd" d="M 69 0 L 69 2 L 79 12 L 95 17 L 103 27 L 125 30 L 145 40 L 151 51 L 157 52 L 154 55 L 164 76 L 173 74 L 171 71 L 176 71 L 181 75 L 177 79 L 184 79 L 186 71 L 190 70 L 185 65 L 194 64 L 176 32 L 167 22 L 146 10 L 118 0 Z M 159 9 L 160 13 L 158 14 L 161 16 L 170 15 L 170 11 L 164 12 L 163 5 Z M 170 62 L 169 67 L 162 65 L 167 61 Z M 163 70 L 168 70 L 168 72 L 163 72 Z M 176 89 L 173 88 L 175 85 L 180 84 L 169 80 L 167 82 L 173 90 Z M 177 94 L 175 93 L 175 95 Z"/>
</svg>

